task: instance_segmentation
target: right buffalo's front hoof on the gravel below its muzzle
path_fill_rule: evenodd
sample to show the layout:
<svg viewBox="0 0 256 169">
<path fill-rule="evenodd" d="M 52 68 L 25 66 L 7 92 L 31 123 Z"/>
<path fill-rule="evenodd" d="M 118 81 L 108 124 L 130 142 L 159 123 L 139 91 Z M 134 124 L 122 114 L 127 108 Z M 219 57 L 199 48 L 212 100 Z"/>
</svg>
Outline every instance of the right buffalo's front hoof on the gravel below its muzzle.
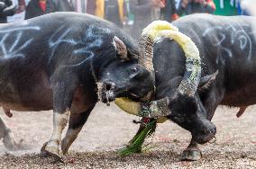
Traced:
<svg viewBox="0 0 256 169">
<path fill-rule="evenodd" d="M 197 161 L 202 158 L 202 153 L 198 148 L 187 148 L 182 152 L 182 161 Z"/>
</svg>

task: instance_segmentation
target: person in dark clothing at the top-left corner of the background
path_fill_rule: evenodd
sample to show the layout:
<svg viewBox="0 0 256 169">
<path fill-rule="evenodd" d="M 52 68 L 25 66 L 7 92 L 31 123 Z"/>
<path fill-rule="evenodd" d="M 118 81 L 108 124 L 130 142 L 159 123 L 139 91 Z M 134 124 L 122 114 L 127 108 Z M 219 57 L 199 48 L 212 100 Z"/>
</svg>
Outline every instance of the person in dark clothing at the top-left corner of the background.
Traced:
<svg viewBox="0 0 256 169">
<path fill-rule="evenodd" d="M 16 6 L 11 0 L 0 0 L 0 23 L 7 22 L 7 16 L 12 16 L 16 12 Z"/>
</svg>

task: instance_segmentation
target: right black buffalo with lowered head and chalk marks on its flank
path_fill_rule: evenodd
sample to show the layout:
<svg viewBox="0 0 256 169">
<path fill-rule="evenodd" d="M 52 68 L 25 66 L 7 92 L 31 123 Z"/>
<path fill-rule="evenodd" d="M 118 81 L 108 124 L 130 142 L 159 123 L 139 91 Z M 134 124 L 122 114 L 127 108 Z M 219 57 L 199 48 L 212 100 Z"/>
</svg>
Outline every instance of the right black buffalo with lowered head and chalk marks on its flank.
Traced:
<svg viewBox="0 0 256 169">
<path fill-rule="evenodd" d="M 192 139 L 183 152 L 183 159 L 200 158 L 197 143 L 204 144 L 215 137 L 216 128 L 210 120 L 218 105 L 240 107 L 239 116 L 246 106 L 256 103 L 256 31 L 252 28 L 253 22 L 256 22 L 255 18 L 249 16 L 210 14 L 189 15 L 172 22 L 197 45 L 200 62 L 186 59 L 175 40 L 161 38 L 152 44 L 151 38 L 143 35 L 142 56 L 146 55 L 148 62 L 153 56 L 156 101 L 144 104 L 141 115 L 147 118 L 166 116 L 191 132 Z M 200 71 L 194 71 L 198 66 Z M 151 72 L 152 67 L 149 70 Z M 119 97 L 125 86 L 118 87 L 120 78 L 114 76 L 114 71 L 108 74 L 110 76 L 105 81 L 114 84 L 112 93 Z M 193 80 L 189 78 L 192 74 Z M 138 88 L 138 83 L 136 85 Z M 138 94 L 133 93 L 134 96 Z"/>
</svg>

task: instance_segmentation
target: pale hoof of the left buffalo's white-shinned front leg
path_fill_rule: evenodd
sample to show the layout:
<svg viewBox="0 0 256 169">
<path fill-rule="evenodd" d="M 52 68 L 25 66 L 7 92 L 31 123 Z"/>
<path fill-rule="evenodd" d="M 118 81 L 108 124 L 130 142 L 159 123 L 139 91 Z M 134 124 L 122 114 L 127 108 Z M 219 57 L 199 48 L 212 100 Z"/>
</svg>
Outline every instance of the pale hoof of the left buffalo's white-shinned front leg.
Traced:
<svg viewBox="0 0 256 169">
<path fill-rule="evenodd" d="M 62 162 L 63 160 L 59 155 L 59 144 L 58 141 L 49 141 L 43 144 L 41 147 L 41 155 L 42 156 L 52 156 L 54 157 L 57 161 Z"/>
</svg>

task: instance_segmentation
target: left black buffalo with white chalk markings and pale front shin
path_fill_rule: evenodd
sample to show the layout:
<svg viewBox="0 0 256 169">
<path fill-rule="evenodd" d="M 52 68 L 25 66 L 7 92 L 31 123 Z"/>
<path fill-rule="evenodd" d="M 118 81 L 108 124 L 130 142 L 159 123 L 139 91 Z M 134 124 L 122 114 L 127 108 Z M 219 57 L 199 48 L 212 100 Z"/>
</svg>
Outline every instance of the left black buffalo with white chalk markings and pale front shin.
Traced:
<svg viewBox="0 0 256 169">
<path fill-rule="evenodd" d="M 133 77 L 137 69 L 144 70 L 142 76 L 149 74 L 136 64 L 138 51 L 137 43 L 114 24 L 87 14 L 50 13 L 1 25 L 0 105 L 7 114 L 10 110 L 53 110 L 53 132 L 41 151 L 59 156 L 61 145 L 65 154 L 95 107 L 97 87 L 103 87 L 99 79 L 107 67 L 121 65 L 125 71 L 129 67 L 127 72 Z M 128 74 L 123 69 L 117 72 Z M 139 95 L 152 86 L 146 82 Z M 126 91 L 137 90 L 132 86 Z M 1 119 L 0 138 L 14 147 L 12 132 Z"/>
</svg>

